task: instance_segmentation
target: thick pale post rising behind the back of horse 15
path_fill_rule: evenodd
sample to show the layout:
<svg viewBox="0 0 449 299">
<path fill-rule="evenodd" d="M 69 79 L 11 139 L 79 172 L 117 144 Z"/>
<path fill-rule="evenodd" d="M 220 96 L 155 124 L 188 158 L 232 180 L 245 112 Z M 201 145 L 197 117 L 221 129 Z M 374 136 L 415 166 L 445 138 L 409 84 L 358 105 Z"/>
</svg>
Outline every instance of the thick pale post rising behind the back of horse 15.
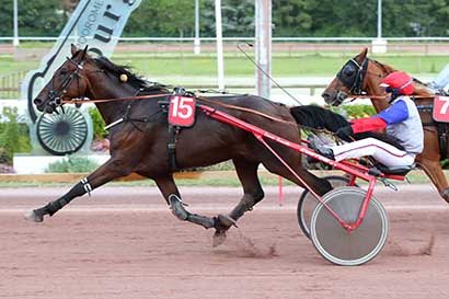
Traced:
<svg viewBox="0 0 449 299">
<path fill-rule="evenodd" d="M 272 0 L 255 0 L 255 55 L 257 95 L 269 99 L 272 82 Z"/>
</svg>

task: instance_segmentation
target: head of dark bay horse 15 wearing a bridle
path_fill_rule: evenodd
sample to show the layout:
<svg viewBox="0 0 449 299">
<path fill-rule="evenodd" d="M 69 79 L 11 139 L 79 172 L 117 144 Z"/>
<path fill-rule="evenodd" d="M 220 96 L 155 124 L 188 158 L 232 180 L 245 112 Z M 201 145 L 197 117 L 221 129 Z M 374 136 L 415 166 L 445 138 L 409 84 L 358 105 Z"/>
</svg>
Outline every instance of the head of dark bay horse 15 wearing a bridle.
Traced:
<svg viewBox="0 0 449 299">
<path fill-rule="evenodd" d="M 64 100 L 87 95 L 89 89 L 87 61 L 90 59 L 88 47 L 78 49 L 72 45 L 71 55 L 71 58 L 67 58 L 34 99 L 33 102 L 38 111 L 53 113 L 64 104 Z"/>
</svg>

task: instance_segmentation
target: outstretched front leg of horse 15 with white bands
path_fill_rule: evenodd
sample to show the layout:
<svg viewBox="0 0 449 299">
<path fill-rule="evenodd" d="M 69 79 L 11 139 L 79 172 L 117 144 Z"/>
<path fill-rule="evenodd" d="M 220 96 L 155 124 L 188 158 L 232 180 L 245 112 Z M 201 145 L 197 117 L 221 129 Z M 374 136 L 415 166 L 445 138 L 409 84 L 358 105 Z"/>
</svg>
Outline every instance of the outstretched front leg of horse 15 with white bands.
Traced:
<svg viewBox="0 0 449 299">
<path fill-rule="evenodd" d="M 73 198 L 92 192 L 94 188 L 114 180 L 117 177 L 129 174 L 131 170 L 123 163 L 120 159 L 110 159 L 106 163 L 96 169 L 93 173 L 88 175 L 76 184 L 68 193 L 59 197 L 58 199 L 48 203 L 42 208 L 34 209 L 25 214 L 27 220 L 35 222 L 44 221 L 44 216 L 53 216 L 60 210 L 64 206 L 69 204 Z"/>
</svg>

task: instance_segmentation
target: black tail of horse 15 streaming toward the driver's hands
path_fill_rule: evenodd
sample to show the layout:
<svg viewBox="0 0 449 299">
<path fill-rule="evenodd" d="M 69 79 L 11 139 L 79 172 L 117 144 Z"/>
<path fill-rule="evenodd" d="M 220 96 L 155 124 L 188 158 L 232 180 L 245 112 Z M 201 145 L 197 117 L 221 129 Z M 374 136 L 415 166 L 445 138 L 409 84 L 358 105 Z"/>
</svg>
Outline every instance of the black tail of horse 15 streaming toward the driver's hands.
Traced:
<svg viewBox="0 0 449 299">
<path fill-rule="evenodd" d="M 314 129 L 336 131 L 338 128 L 349 125 L 349 122 L 342 115 L 316 105 L 291 107 L 290 114 L 298 125 Z"/>
</svg>

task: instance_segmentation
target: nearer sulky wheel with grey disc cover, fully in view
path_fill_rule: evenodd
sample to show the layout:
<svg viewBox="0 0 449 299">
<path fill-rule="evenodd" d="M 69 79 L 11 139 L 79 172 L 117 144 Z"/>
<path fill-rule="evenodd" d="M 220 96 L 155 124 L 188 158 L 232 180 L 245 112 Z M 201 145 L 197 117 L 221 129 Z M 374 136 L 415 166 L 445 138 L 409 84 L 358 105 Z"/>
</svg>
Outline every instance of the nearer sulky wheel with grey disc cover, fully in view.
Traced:
<svg viewBox="0 0 449 299">
<path fill-rule="evenodd" d="M 366 191 L 346 186 L 324 195 L 326 203 L 343 220 L 354 223 Z M 313 245 L 327 261 L 344 266 L 364 264 L 373 258 L 387 241 L 389 221 L 382 205 L 371 197 L 361 225 L 348 232 L 322 205 L 312 212 L 310 232 Z"/>
</svg>

